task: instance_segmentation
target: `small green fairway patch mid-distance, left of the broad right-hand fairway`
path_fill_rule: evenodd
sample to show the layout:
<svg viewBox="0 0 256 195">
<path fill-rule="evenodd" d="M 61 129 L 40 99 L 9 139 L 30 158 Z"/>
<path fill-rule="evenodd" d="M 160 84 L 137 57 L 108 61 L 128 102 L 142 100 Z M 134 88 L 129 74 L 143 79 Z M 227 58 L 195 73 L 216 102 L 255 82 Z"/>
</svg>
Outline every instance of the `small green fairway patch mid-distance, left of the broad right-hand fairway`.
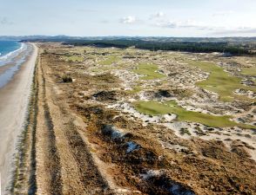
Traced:
<svg viewBox="0 0 256 195">
<path fill-rule="evenodd" d="M 160 74 L 158 71 L 158 65 L 152 63 L 140 63 L 137 68 L 133 70 L 134 73 L 139 75 L 145 75 L 141 79 L 153 80 L 165 78 L 165 75 Z"/>
</svg>

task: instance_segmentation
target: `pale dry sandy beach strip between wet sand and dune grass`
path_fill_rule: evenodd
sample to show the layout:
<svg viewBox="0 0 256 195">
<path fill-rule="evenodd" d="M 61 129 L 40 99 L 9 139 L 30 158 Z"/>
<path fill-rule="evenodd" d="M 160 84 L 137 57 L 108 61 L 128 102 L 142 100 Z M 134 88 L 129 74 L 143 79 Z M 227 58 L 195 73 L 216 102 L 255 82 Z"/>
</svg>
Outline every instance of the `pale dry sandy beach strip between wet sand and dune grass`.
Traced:
<svg viewBox="0 0 256 195">
<path fill-rule="evenodd" d="M 24 125 L 24 118 L 30 96 L 30 86 L 37 60 L 37 47 L 33 45 L 33 51 L 28 61 L 4 88 L 0 89 L 0 172 L 1 191 L 10 180 L 11 162 L 17 137 Z"/>
</svg>

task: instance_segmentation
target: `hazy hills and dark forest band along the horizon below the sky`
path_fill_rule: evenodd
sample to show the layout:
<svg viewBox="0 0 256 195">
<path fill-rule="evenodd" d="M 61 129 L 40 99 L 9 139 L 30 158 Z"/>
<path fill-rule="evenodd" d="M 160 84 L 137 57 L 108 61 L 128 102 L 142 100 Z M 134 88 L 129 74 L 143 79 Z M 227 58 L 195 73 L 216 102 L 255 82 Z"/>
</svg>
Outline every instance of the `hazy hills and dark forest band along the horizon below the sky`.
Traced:
<svg viewBox="0 0 256 195">
<path fill-rule="evenodd" d="M 0 36 L 20 42 L 62 42 L 75 46 L 116 47 L 185 52 L 221 52 L 255 55 L 256 37 L 164 37 L 164 36 Z"/>
</svg>

